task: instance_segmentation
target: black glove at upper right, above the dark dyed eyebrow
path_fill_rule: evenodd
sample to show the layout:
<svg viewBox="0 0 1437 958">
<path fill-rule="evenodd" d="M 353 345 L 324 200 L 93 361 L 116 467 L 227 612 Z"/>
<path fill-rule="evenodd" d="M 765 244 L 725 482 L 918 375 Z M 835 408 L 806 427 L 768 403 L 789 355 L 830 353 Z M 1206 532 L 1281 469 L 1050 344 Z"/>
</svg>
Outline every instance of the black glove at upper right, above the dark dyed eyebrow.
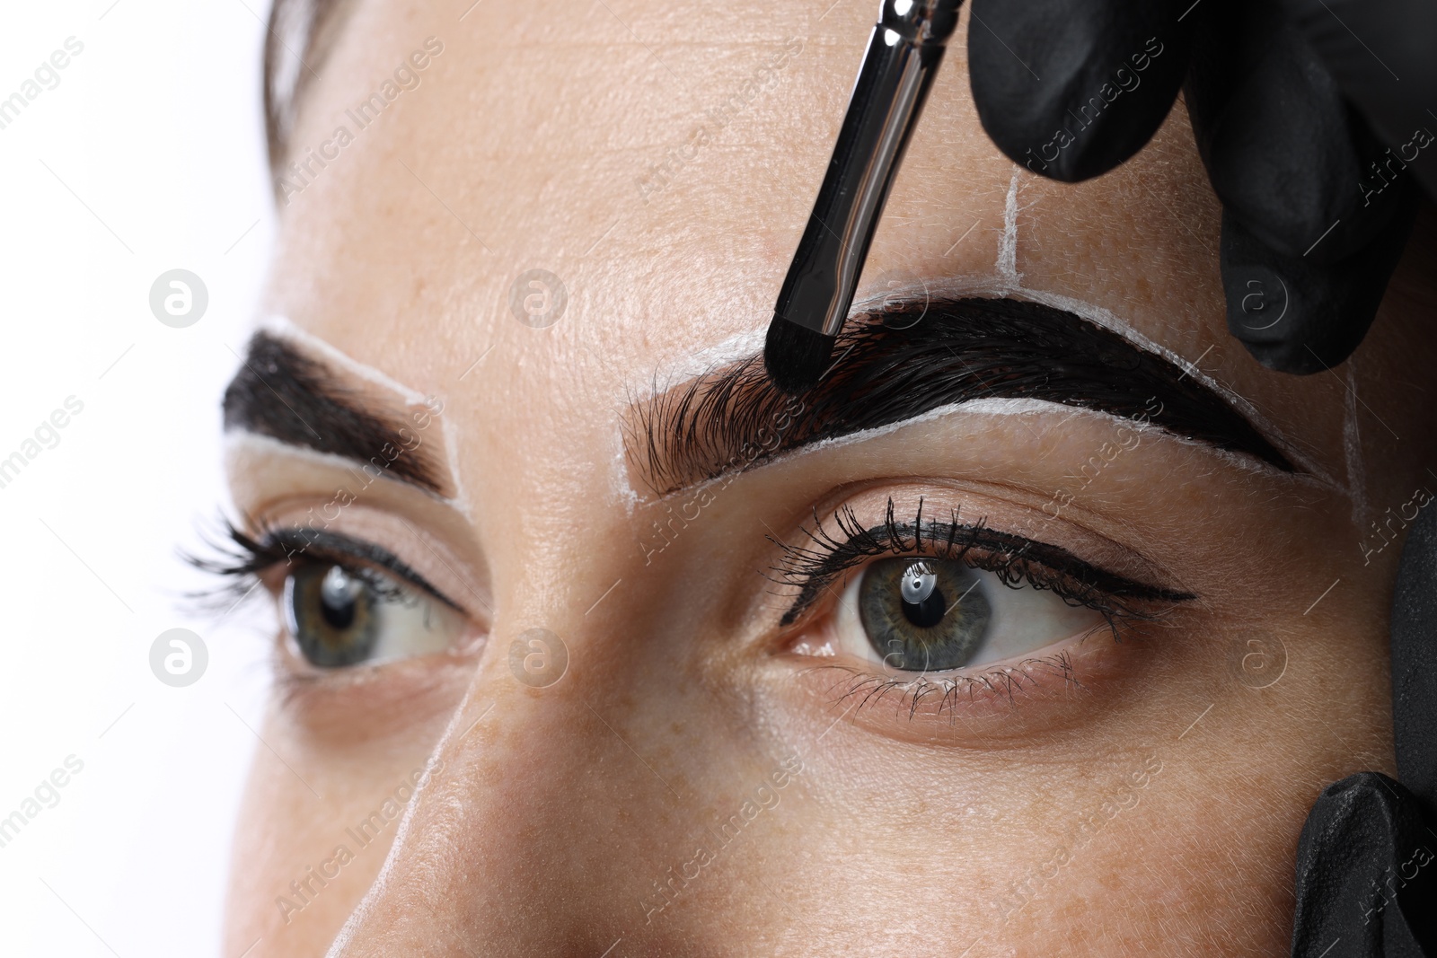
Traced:
<svg viewBox="0 0 1437 958">
<path fill-rule="evenodd" d="M 1285 372 L 1351 355 L 1411 228 L 1413 174 L 1437 195 L 1437 1 L 971 0 L 971 16 L 984 129 L 1055 180 L 1141 149 L 1186 80 L 1223 201 L 1229 330 Z"/>
</svg>

